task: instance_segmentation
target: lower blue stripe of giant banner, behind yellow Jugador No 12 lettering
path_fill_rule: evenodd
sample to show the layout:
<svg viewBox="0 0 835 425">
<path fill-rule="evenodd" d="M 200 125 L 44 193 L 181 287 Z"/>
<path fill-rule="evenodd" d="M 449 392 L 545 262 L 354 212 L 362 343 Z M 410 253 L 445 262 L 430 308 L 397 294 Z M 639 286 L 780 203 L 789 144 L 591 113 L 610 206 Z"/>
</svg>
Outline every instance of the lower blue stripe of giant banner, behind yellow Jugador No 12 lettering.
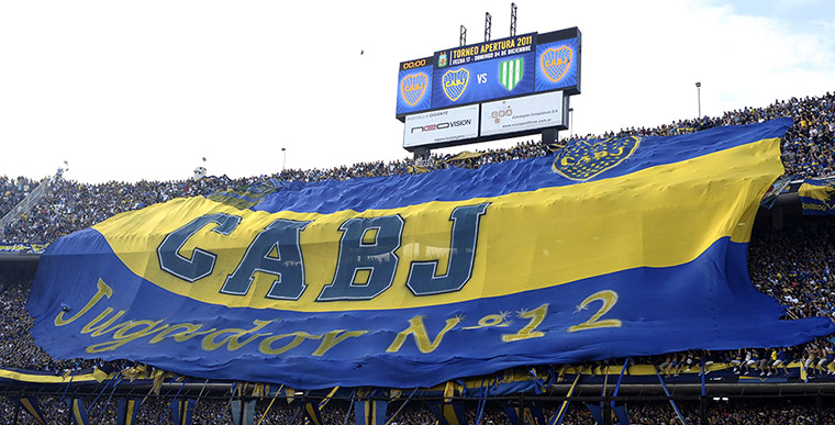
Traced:
<svg viewBox="0 0 835 425">
<path fill-rule="evenodd" d="M 89 231 L 94 232 L 94 231 Z M 120 290 L 114 286 L 110 299 L 99 302 L 96 309 L 77 322 L 64 326 L 64 335 L 80 334 L 81 328 L 96 317 L 104 307 L 110 305 L 130 305 L 134 297 L 145 299 L 146 307 L 142 311 L 131 311 L 121 320 L 147 321 L 154 317 L 166 317 L 166 324 L 191 324 L 194 317 L 207 317 L 203 328 L 254 328 L 253 321 L 266 321 L 269 326 L 257 329 L 257 333 L 286 334 L 304 332 L 311 335 L 325 335 L 334 331 L 333 320 L 347 320 L 355 329 L 377 329 L 375 333 L 363 335 L 361 338 L 347 338 L 331 348 L 323 356 L 311 357 L 318 349 L 320 340 L 293 343 L 296 348 L 282 356 L 263 356 L 258 353 L 260 340 L 243 345 L 236 354 L 250 353 L 261 359 L 230 365 L 229 351 L 220 348 L 203 351 L 183 364 L 179 358 L 172 358 L 167 353 L 178 353 L 183 349 L 181 343 L 167 338 L 156 344 L 148 344 L 151 338 L 137 338 L 125 342 L 133 356 L 147 364 L 165 370 L 178 370 L 181 373 L 196 377 L 229 379 L 241 378 L 242 373 L 256 382 L 279 382 L 290 387 L 309 389 L 332 388 L 336 384 L 345 387 L 361 387 L 374 384 L 378 387 L 397 387 L 403 380 L 414 385 L 430 387 L 437 383 L 438 376 L 480 376 L 496 370 L 515 366 L 536 364 L 571 364 L 594 359 L 608 359 L 625 356 L 648 356 L 659 353 L 682 351 L 693 348 L 733 349 L 736 347 L 780 347 L 805 343 L 815 336 L 828 335 L 832 322 L 826 317 L 812 317 L 801 321 L 777 321 L 784 314 L 784 307 L 777 300 L 758 292 L 743 276 L 747 276 L 745 256 L 747 244 L 731 243 L 727 238 L 717 241 L 711 248 L 695 260 L 669 268 L 639 268 L 619 271 L 611 275 L 579 280 L 539 290 L 515 293 L 493 299 L 481 299 L 455 304 L 433 305 L 419 309 L 394 311 L 377 311 L 375 314 L 365 312 L 330 312 L 318 313 L 316 320 L 311 321 L 307 313 L 281 312 L 281 323 L 272 324 L 275 311 L 256 309 L 229 309 L 208 305 L 191 299 L 180 299 L 180 307 L 176 314 L 168 311 L 168 305 L 162 305 L 155 300 L 170 298 L 170 293 L 162 288 L 143 281 L 138 293 L 136 289 Z M 715 259 L 728 256 L 730 267 L 725 270 L 730 284 L 725 281 L 711 280 L 705 277 L 705 268 L 716 267 Z M 63 259 L 63 258 L 60 258 Z M 55 260 L 55 259 L 53 259 Z M 71 262 L 71 260 L 70 260 Z M 102 255 L 99 258 L 102 267 L 121 270 L 122 277 L 114 282 L 136 282 L 138 278 L 127 270 L 113 255 Z M 736 266 L 734 266 L 736 265 Z M 71 269 L 73 265 L 68 265 Z M 81 270 L 77 270 L 81 273 Z M 738 276 L 735 276 L 738 275 Z M 669 286 L 676 281 L 675 290 Z M 716 277 L 717 279 L 720 276 Z M 721 276 L 724 278 L 724 276 Z M 641 291 L 635 291 L 633 282 L 643 281 Z M 132 283 L 129 283 L 132 284 Z M 587 321 L 601 309 L 601 303 L 591 304 L 587 310 L 579 310 L 583 299 L 600 291 L 614 291 L 619 294 L 617 302 L 601 318 L 617 318 L 621 327 L 590 329 L 588 332 L 568 333 L 567 328 Z M 93 294 L 92 290 L 79 297 L 84 301 L 74 303 L 84 305 Z M 708 301 L 708 297 L 710 301 Z M 547 300 L 547 303 L 544 303 Z M 547 305 L 546 305 L 547 304 Z M 527 325 L 531 318 L 517 318 L 519 327 L 483 327 L 465 329 L 476 324 L 485 314 L 502 311 L 537 307 L 547 309 L 547 315 L 537 324 L 536 329 L 558 333 L 559 338 L 525 338 L 513 344 L 499 344 L 494 350 L 485 351 L 482 344 L 474 340 L 501 340 L 501 335 L 513 334 L 519 327 Z M 476 315 L 474 323 L 464 323 L 443 332 L 448 320 L 454 320 L 461 311 L 482 312 Z M 688 314 L 682 314 L 688 312 Z M 710 312 L 711 314 L 703 314 Z M 368 357 L 361 361 L 364 373 L 356 373 L 356 361 L 346 355 L 363 353 L 385 353 L 396 342 L 398 333 L 410 327 L 409 317 L 424 317 L 421 323 L 431 340 L 439 335 L 439 344 L 454 345 L 458 349 L 455 361 L 447 362 L 438 351 L 421 353 L 415 346 L 413 336 L 403 339 L 400 347 L 403 361 L 389 361 L 388 357 Z M 468 314 L 469 316 L 469 314 Z M 215 317 L 213 322 L 209 317 Z M 658 323 L 652 317 L 664 317 Z M 769 323 L 761 326 L 760 323 Z M 681 332 L 691 329 L 691 332 Z M 697 332 L 695 329 L 711 329 Z M 245 335 L 245 334 L 244 334 Z M 245 340 L 242 337 L 241 340 Z M 94 343 L 112 340 L 102 336 Z M 291 343 L 291 338 L 280 345 Z M 602 344 L 601 342 L 605 342 Z M 48 353 L 63 356 L 78 355 L 76 351 L 65 353 L 64 339 L 40 340 Z M 277 343 L 276 346 L 279 346 Z M 104 360 L 121 359 L 119 350 L 87 354 L 81 357 L 100 357 Z M 489 360 L 489 361 L 487 361 Z M 432 365 L 434 373 L 425 373 L 424 369 L 414 365 Z M 337 367 L 338 366 L 338 367 Z M 371 368 L 368 368 L 368 367 Z M 329 374 L 322 376 L 326 369 Z M 374 372 L 377 371 L 377 372 Z"/>
</svg>

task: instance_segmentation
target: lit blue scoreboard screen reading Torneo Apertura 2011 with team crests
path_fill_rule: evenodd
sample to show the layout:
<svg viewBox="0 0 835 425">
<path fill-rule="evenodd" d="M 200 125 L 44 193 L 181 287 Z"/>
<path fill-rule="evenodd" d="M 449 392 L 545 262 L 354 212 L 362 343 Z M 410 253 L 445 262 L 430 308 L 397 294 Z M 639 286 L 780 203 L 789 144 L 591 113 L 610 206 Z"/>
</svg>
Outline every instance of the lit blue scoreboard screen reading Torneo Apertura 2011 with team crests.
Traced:
<svg viewBox="0 0 835 425">
<path fill-rule="evenodd" d="M 400 64 L 397 118 L 564 90 L 580 92 L 577 27 L 447 48 Z"/>
</svg>

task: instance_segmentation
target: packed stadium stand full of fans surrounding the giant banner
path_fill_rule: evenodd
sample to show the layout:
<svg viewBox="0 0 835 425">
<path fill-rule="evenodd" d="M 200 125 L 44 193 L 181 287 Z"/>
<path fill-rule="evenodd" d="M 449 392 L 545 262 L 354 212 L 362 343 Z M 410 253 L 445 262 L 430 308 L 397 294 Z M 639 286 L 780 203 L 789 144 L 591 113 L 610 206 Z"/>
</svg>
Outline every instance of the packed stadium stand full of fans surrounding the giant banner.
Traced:
<svg viewBox="0 0 835 425">
<path fill-rule="evenodd" d="M 535 142 L 521 143 L 508 149 L 468 153 L 467 155 L 433 155 L 428 165 L 416 165 L 411 159 L 398 161 L 369 161 L 332 169 L 285 170 L 267 177 L 231 179 L 210 176 L 199 180 L 140 181 L 136 183 L 111 181 L 101 184 L 81 183 L 63 176 L 49 176 L 40 181 L 24 177 L 0 177 L 0 369 L 26 370 L 54 377 L 71 376 L 86 370 L 123 371 L 145 369 L 140 379 L 147 384 L 120 387 L 113 379 L 75 388 L 67 385 L 18 385 L 0 382 L 0 415 L 4 423 L 37 424 L 21 400 L 35 399 L 46 423 L 68 423 L 73 415 L 69 399 L 79 399 L 87 406 L 90 423 L 115 424 L 119 398 L 142 400 L 137 423 L 174 423 L 171 401 L 188 395 L 196 400 L 192 423 L 233 423 L 232 401 L 254 403 L 255 423 L 296 424 L 304 421 L 299 403 L 281 390 L 253 391 L 257 383 L 209 382 L 193 379 L 177 380 L 163 371 L 131 361 L 103 362 L 100 360 L 56 360 L 37 347 L 30 333 L 33 321 L 26 311 L 34 278 L 34 264 L 43 246 L 73 232 L 84 230 L 125 211 L 181 197 L 200 197 L 249 187 L 261 181 L 312 182 L 347 180 L 405 174 L 433 172 L 449 167 L 478 168 L 486 164 L 552 155 L 574 139 L 602 138 L 625 135 L 676 135 L 724 125 L 764 122 L 791 116 L 794 125 L 782 139 L 782 159 L 786 175 L 791 181 L 804 178 L 835 177 L 835 93 L 803 99 L 778 100 L 764 108 L 745 108 L 728 111 L 722 116 L 683 120 L 654 128 L 631 127 L 599 135 L 575 135 L 553 146 Z M 38 188 L 46 188 L 37 202 L 26 203 L 27 197 Z M 20 205 L 20 206 L 19 206 Z M 779 215 L 778 211 L 779 210 Z M 33 257 L 34 256 L 34 257 Z M 787 320 L 824 316 L 835 318 L 835 219 L 810 217 L 801 214 L 797 198 L 778 200 L 775 210 L 760 209 L 748 257 L 752 281 L 756 288 L 788 307 Z M 553 417 L 564 406 L 563 401 L 571 385 L 571 370 L 580 369 L 590 380 L 574 393 L 567 405 L 563 424 L 588 424 L 594 418 L 583 403 L 597 404 L 601 400 L 625 403 L 632 424 L 812 424 L 835 423 L 835 339 L 817 338 L 795 347 L 738 347 L 737 350 L 665 354 L 630 359 L 630 371 L 639 374 L 641 366 L 669 378 L 671 395 L 665 394 L 655 374 L 652 380 L 624 385 L 620 399 L 612 394 L 613 381 L 626 359 L 611 359 L 589 365 L 553 365 L 555 383 L 546 391 L 520 393 L 506 400 L 467 398 L 460 395 L 467 422 L 475 424 L 512 423 L 508 403 L 538 406 L 545 418 Z M 721 370 L 709 369 L 701 373 L 701 365 L 725 365 Z M 787 366 L 793 365 L 791 368 Z M 569 369 L 574 368 L 574 369 Z M 522 371 L 527 373 L 527 371 Z M 627 371 L 627 373 L 630 373 Z M 534 372 L 534 376 L 536 373 Z M 689 376 L 689 380 L 679 380 Z M 713 377 L 721 377 L 713 380 Z M 769 380 L 769 378 L 781 380 Z M 786 377 L 786 378 L 783 378 Z M 832 378 L 831 378 L 832 377 Z M 156 378 L 156 379 L 155 379 Z M 166 381 L 166 378 L 168 380 Z M 701 395 L 705 379 L 712 387 Z M 654 381 L 653 381 L 654 380 Z M 153 381 L 153 382 L 152 382 Z M 700 385 L 701 381 L 701 385 Z M 180 383 L 182 382 L 182 383 Z M 188 382 L 188 385 L 186 385 Z M 125 381 L 126 383 L 126 381 Z M 110 388 L 108 388 L 110 385 Z M 243 390 L 242 390 L 243 388 Z M 608 390 L 606 390 L 608 389 Z M 322 421 L 326 424 L 355 424 L 352 411 L 353 396 L 326 398 Z M 302 395 L 296 399 L 301 400 Z M 441 395 L 412 399 L 403 390 L 391 395 L 388 413 L 391 424 L 435 424 L 437 416 L 426 402 L 438 401 Z M 420 400 L 419 400 L 420 399 Z M 307 399 L 305 399 L 307 400 Z M 670 403 L 675 400 L 677 403 Z M 402 409 L 401 409 L 402 407 Z M 534 415 L 536 416 L 536 415 Z M 260 422 L 259 422 L 260 421 Z M 605 418 L 604 422 L 612 421 Z M 617 423 L 616 418 L 614 423 Z M 539 423 L 533 418 L 532 422 Z M 608 422 L 612 423 L 612 422 Z"/>
</svg>

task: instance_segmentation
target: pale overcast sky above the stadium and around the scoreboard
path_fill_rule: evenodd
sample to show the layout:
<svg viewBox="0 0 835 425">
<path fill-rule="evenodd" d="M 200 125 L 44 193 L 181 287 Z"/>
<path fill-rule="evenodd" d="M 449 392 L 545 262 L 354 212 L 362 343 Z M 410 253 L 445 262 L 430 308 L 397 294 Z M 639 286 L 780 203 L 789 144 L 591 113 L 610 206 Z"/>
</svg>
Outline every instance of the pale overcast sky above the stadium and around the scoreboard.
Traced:
<svg viewBox="0 0 835 425">
<path fill-rule="evenodd" d="M 835 90 L 832 0 L 515 3 L 517 34 L 582 32 L 577 134 L 694 118 L 695 81 L 708 115 Z M 258 176 L 282 147 L 288 168 L 403 158 L 399 63 L 457 46 L 459 25 L 482 42 L 485 12 L 509 36 L 510 4 L 0 1 L 0 175 L 185 179 L 205 157 Z"/>
</svg>

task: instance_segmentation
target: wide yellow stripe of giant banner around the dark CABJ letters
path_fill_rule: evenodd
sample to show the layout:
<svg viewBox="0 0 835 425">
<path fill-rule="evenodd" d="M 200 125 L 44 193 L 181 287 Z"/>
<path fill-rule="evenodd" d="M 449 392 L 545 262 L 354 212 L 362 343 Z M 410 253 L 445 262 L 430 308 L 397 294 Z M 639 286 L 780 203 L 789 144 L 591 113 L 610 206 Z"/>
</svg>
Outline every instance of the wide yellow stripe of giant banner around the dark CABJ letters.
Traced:
<svg viewBox="0 0 835 425">
<path fill-rule="evenodd" d="M 748 242 L 756 204 L 782 171 L 779 138 L 770 138 L 623 177 L 493 198 L 333 214 L 242 211 L 191 198 L 119 214 L 93 228 L 134 273 L 205 303 L 300 312 L 407 309 L 501 297 L 638 267 L 671 267 L 693 260 L 725 236 Z M 481 217 L 469 282 L 456 292 L 414 297 L 405 286 L 411 262 L 438 260 L 438 270 L 446 270 L 452 211 L 481 202 L 490 205 Z M 163 271 L 156 249 L 165 236 L 215 212 L 238 215 L 241 224 L 229 235 L 204 226 L 180 250 L 186 257 L 196 247 L 215 254 L 212 273 L 191 283 Z M 352 217 L 391 214 L 405 222 L 393 284 L 368 301 L 315 302 L 333 280 L 339 225 Z M 300 233 L 308 286 L 301 298 L 265 298 L 275 276 L 263 272 L 255 273 L 245 295 L 220 293 L 249 243 L 276 219 L 312 221 Z"/>
</svg>

